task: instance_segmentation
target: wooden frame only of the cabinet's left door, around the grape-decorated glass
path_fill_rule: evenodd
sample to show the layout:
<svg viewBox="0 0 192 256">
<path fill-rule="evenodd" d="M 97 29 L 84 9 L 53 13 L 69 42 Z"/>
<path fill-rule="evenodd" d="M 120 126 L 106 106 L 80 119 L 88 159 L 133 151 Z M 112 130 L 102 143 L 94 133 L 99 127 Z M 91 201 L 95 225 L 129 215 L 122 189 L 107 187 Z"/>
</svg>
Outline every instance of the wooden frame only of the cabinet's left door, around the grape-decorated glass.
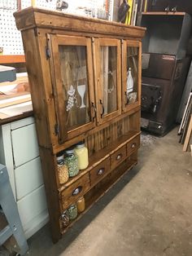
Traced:
<svg viewBox="0 0 192 256">
<path fill-rule="evenodd" d="M 59 34 L 47 34 L 49 46 L 50 46 L 50 70 L 51 80 L 53 84 L 53 91 L 55 94 L 55 109 L 56 117 L 59 126 L 59 143 L 63 143 L 65 140 L 72 139 L 76 135 L 84 133 L 87 130 L 94 128 L 95 126 L 95 113 L 94 113 L 94 75 L 93 75 L 93 61 L 91 51 L 91 38 L 66 36 Z M 60 66 L 59 60 L 59 46 L 86 46 L 86 60 L 87 60 L 87 80 L 89 83 L 89 109 L 90 118 L 89 123 L 78 126 L 73 130 L 67 130 L 67 118 L 65 104 L 63 100 L 63 82 L 61 79 L 60 69 L 56 68 Z"/>
</svg>

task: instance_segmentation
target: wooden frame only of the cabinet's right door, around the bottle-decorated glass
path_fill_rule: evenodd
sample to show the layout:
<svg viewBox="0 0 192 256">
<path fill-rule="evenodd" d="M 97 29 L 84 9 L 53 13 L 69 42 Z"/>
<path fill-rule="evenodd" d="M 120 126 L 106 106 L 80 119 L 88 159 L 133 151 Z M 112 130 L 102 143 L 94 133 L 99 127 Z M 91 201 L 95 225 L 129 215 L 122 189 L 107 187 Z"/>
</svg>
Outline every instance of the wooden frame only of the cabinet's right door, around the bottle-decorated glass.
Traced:
<svg viewBox="0 0 192 256">
<path fill-rule="evenodd" d="M 127 47 L 138 47 L 138 74 L 137 74 L 137 101 L 133 104 L 126 105 L 126 82 L 127 82 Z M 129 110 L 141 105 L 142 95 L 142 42 L 123 40 L 122 41 L 122 111 Z"/>
</svg>

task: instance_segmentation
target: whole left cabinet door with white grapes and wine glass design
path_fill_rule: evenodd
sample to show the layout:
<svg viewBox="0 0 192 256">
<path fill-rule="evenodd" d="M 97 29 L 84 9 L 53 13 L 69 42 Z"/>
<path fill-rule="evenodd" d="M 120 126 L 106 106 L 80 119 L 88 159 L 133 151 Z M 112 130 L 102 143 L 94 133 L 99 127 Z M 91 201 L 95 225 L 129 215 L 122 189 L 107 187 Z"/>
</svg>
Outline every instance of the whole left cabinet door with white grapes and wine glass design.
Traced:
<svg viewBox="0 0 192 256">
<path fill-rule="evenodd" d="M 95 126 L 91 39 L 50 35 L 59 143 Z"/>
</svg>

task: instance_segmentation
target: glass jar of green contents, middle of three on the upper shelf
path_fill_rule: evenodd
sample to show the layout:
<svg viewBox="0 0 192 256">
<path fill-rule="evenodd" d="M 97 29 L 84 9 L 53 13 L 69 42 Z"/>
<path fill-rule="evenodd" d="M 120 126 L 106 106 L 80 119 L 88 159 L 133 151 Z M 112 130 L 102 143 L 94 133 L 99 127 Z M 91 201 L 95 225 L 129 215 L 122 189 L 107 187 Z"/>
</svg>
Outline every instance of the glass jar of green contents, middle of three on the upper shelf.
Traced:
<svg viewBox="0 0 192 256">
<path fill-rule="evenodd" d="M 78 158 L 74 153 L 73 148 L 68 148 L 64 152 L 64 162 L 68 166 L 69 177 L 74 177 L 79 173 Z"/>
</svg>

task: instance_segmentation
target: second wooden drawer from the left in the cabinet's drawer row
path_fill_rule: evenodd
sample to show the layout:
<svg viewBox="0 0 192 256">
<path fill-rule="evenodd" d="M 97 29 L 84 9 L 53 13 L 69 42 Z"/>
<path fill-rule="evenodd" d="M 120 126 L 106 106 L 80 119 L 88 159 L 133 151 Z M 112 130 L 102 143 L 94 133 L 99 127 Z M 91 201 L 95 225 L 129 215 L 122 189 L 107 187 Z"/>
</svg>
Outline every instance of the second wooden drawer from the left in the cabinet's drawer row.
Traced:
<svg viewBox="0 0 192 256">
<path fill-rule="evenodd" d="M 90 174 L 90 185 L 98 183 L 99 180 L 103 179 L 103 177 L 109 173 L 110 171 L 110 158 L 108 157 L 106 160 L 101 162 L 98 166 L 94 167 L 93 170 L 89 172 Z"/>
</svg>

